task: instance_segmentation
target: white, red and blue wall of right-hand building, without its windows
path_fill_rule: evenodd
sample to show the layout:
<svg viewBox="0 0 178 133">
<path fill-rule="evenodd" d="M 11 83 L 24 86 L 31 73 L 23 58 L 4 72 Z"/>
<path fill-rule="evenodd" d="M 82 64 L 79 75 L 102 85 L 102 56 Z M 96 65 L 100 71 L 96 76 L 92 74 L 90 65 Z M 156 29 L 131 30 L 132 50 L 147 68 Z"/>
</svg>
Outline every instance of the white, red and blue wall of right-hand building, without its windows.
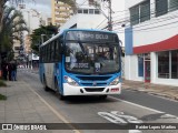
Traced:
<svg viewBox="0 0 178 133">
<path fill-rule="evenodd" d="M 126 10 L 129 10 L 130 7 L 138 4 L 144 0 L 126 0 Z M 150 0 L 151 11 L 155 11 L 155 0 Z M 151 63 L 151 83 L 155 84 L 165 84 L 165 85 L 175 85 L 178 86 L 178 80 L 176 79 L 159 79 L 158 73 L 158 59 L 157 51 L 164 50 L 174 50 L 178 49 L 178 10 L 168 12 L 167 14 L 155 17 L 155 13 L 151 14 L 151 19 L 139 24 L 130 27 L 127 23 L 127 30 L 131 29 L 131 35 L 126 34 L 126 42 L 128 42 L 129 47 L 126 51 L 125 59 L 125 78 L 127 80 L 134 81 L 145 81 L 144 78 L 138 76 L 138 61 L 137 54 L 139 53 L 149 53 L 150 52 L 150 63 Z M 127 14 L 127 17 L 129 17 Z M 128 41 L 129 39 L 129 41 Z M 126 43 L 127 44 L 127 43 Z M 162 49 L 160 45 L 165 47 Z M 172 45 L 174 44 L 174 45 Z M 150 51 L 148 49 L 142 48 L 151 48 Z M 138 49 L 137 48 L 141 48 Z M 131 50 L 132 53 L 130 52 Z"/>
</svg>

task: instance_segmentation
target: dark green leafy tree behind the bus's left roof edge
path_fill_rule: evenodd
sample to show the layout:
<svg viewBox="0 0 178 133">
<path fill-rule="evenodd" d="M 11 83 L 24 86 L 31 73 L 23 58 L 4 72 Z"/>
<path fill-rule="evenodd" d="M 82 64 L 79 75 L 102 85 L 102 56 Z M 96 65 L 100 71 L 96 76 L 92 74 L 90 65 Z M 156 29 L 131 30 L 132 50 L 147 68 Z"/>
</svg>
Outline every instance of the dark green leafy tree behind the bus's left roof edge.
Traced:
<svg viewBox="0 0 178 133">
<path fill-rule="evenodd" d="M 31 38 L 31 49 L 34 53 L 39 53 L 39 45 L 42 43 L 41 38 L 43 39 L 43 42 L 50 39 L 53 34 L 58 33 L 58 28 L 56 25 L 40 25 L 40 28 L 33 30 L 32 34 L 30 34 Z M 41 37 L 43 34 L 43 37 Z"/>
</svg>

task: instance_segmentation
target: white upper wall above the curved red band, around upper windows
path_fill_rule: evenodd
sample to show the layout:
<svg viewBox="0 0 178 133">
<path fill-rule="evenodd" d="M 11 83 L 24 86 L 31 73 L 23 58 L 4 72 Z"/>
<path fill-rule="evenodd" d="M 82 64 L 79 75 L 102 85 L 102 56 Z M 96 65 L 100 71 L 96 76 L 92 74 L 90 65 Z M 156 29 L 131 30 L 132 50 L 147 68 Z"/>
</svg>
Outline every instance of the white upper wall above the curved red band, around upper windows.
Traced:
<svg viewBox="0 0 178 133">
<path fill-rule="evenodd" d="M 126 10 L 142 1 L 126 0 Z M 154 44 L 178 34 L 178 10 L 155 17 L 155 0 L 150 0 L 151 19 L 131 27 L 134 47 Z M 126 16 L 129 17 L 129 12 Z M 127 25 L 130 27 L 129 23 Z"/>
</svg>

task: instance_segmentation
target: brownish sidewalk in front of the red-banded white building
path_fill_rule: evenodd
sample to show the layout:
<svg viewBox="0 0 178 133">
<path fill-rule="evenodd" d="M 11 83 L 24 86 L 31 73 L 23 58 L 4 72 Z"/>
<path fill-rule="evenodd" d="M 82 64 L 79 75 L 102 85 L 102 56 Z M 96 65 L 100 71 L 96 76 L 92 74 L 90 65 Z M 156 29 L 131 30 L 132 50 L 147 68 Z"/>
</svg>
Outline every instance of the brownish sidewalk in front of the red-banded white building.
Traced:
<svg viewBox="0 0 178 133">
<path fill-rule="evenodd" d="M 159 85 L 139 81 L 122 80 L 122 89 L 141 91 L 178 101 L 178 86 Z"/>
</svg>

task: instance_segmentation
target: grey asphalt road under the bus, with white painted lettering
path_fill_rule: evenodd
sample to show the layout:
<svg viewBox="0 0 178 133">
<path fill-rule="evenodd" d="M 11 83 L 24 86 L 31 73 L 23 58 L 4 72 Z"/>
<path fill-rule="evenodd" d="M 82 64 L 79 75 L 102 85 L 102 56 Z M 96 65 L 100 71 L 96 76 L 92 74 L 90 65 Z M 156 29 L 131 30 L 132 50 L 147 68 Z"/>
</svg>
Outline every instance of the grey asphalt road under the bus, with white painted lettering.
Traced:
<svg viewBox="0 0 178 133">
<path fill-rule="evenodd" d="M 174 101 L 130 91 L 122 91 L 121 95 L 109 96 L 106 100 L 100 100 L 97 96 L 71 96 L 66 101 L 60 101 L 53 91 L 44 92 L 38 74 L 21 70 L 18 76 L 19 80 L 29 84 L 51 106 L 52 111 L 62 115 L 63 121 L 91 123 L 91 127 L 93 124 L 100 125 L 97 131 L 88 131 L 89 124 L 77 125 L 85 133 L 108 133 L 108 131 L 118 133 L 118 130 L 110 131 L 110 125 L 107 126 L 103 123 L 116 123 L 113 125 L 122 125 L 123 123 L 178 123 L 178 113 L 176 112 L 178 103 Z M 137 131 L 119 130 L 119 133 L 177 133 L 177 131 L 169 129 L 152 130 L 160 127 L 159 125 L 148 126 L 148 130 L 141 127 L 138 126 Z"/>
</svg>

